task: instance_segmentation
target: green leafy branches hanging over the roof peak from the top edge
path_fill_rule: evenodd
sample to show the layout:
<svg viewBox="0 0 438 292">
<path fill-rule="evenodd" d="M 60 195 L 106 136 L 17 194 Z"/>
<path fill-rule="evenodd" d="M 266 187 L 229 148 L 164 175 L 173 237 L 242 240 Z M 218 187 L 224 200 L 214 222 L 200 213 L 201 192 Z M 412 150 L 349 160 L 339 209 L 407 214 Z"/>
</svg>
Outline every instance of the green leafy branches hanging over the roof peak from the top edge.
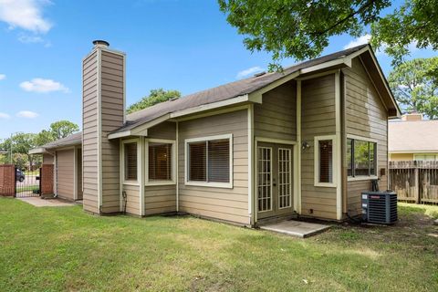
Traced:
<svg viewBox="0 0 438 292">
<path fill-rule="evenodd" d="M 371 26 L 371 43 L 401 59 L 408 46 L 438 47 L 436 0 L 405 0 L 400 8 L 381 16 L 391 0 L 218 0 L 219 7 L 239 34 L 245 47 L 265 50 L 274 63 L 285 57 L 317 57 L 328 46 L 328 37 L 358 37 Z M 437 70 L 438 71 L 438 70 Z M 437 75 L 438 76 L 438 75 Z"/>
</svg>

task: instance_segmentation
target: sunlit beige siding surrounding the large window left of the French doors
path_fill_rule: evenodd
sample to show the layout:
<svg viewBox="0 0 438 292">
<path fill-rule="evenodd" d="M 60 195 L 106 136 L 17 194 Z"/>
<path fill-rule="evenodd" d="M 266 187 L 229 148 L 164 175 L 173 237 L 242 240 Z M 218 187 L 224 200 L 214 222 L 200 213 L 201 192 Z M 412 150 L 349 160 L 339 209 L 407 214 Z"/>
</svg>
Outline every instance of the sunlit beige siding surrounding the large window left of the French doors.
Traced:
<svg viewBox="0 0 438 292">
<path fill-rule="evenodd" d="M 179 123 L 179 205 L 181 212 L 250 224 L 248 214 L 247 110 L 186 120 Z M 232 189 L 191 186 L 184 183 L 184 141 L 220 134 L 233 134 L 234 177 Z"/>
</svg>

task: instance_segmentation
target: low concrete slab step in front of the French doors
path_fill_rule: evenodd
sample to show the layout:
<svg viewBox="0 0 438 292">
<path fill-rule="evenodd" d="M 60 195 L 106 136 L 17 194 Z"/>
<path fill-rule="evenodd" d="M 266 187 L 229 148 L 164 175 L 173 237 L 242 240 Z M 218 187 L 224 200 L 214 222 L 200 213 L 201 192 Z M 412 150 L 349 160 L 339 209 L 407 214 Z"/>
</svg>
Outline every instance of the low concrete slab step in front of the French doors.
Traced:
<svg viewBox="0 0 438 292">
<path fill-rule="evenodd" d="M 295 220 L 281 221 L 273 224 L 261 225 L 260 229 L 305 238 L 316 235 L 330 228 L 330 225 L 301 222 Z"/>
</svg>

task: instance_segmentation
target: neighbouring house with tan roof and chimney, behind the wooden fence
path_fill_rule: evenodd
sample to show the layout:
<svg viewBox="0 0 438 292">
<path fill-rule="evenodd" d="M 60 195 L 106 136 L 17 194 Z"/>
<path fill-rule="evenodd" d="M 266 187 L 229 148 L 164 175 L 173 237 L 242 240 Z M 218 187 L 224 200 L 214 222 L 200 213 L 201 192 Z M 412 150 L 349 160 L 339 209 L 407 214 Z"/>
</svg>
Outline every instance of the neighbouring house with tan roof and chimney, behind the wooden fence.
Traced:
<svg viewBox="0 0 438 292">
<path fill-rule="evenodd" d="M 438 120 L 411 113 L 391 121 L 389 129 L 390 161 L 438 161 Z"/>
</svg>

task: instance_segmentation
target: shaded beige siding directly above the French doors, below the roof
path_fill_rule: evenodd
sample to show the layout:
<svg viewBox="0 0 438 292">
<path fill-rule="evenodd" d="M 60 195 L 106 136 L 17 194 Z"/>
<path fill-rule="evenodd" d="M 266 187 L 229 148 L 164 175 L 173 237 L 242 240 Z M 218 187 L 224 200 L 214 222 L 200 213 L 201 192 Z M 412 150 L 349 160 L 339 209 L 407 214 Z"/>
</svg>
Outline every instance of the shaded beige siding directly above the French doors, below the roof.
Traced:
<svg viewBox="0 0 438 292">
<path fill-rule="evenodd" d="M 263 103 L 255 104 L 254 133 L 255 137 L 297 140 L 296 81 L 266 92 Z"/>
</svg>

